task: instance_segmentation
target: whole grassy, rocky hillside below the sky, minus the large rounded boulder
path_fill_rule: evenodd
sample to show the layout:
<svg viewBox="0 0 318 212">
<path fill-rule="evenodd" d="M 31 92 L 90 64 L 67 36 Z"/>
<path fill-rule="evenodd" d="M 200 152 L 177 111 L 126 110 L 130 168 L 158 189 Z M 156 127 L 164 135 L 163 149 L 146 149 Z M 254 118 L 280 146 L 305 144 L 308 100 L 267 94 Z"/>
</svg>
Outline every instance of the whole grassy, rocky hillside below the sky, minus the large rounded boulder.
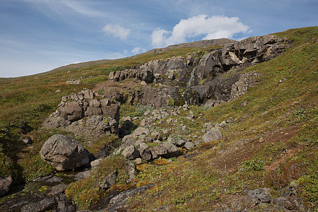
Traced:
<svg viewBox="0 0 318 212">
<path fill-rule="evenodd" d="M 300 28 L 1 78 L 1 211 L 317 210 L 317 41 Z M 42 160 L 56 134 L 101 158 L 85 179 Z"/>
</svg>

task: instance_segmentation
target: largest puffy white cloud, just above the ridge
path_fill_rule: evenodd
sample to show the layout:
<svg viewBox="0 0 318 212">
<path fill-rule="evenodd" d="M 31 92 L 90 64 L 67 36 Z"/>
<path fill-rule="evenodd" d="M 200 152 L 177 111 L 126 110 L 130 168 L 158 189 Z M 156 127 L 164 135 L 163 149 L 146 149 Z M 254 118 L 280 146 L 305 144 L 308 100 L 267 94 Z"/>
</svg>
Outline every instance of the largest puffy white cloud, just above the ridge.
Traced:
<svg viewBox="0 0 318 212">
<path fill-rule="evenodd" d="M 161 28 L 153 30 L 153 47 L 166 47 L 186 42 L 189 37 L 205 36 L 203 39 L 232 37 L 236 33 L 247 33 L 249 27 L 240 22 L 240 18 L 226 16 L 211 16 L 204 14 L 182 19 L 172 31 Z"/>
</svg>

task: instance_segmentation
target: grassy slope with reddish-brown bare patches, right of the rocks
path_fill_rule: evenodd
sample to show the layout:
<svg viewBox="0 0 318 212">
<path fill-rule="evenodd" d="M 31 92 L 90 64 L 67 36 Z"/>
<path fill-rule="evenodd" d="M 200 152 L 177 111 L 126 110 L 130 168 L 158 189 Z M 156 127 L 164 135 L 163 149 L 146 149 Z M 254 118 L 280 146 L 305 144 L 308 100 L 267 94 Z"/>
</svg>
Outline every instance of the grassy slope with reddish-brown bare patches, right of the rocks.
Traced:
<svg viewBox="0 0 318 212">
<path fill-rule="evenodd" d="M 232 117 L 225 139 L 199 148 L 192 160 L 139 167 L 139 184 L 155 187 L 131 199 L 131 210 L 209 211 L 248 189 L 270 187 L 278 195 L 292 181 L 300 184 L 306 206 L 317 206 L 318 28 L 276 35 L 295 42 L 281 57 L 246 70 L 262 73 L 261 83 L 197 120 L 220 123 Z"/>
</svg>

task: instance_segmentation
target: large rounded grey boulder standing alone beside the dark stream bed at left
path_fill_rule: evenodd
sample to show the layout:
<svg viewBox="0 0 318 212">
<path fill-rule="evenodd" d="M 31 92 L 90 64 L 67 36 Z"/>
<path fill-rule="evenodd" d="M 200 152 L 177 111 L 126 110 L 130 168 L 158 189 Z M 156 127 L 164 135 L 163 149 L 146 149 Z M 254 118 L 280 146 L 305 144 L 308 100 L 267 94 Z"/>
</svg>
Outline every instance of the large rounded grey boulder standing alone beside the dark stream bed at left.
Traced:
<svg viewBox="0 0 318 212">
<path fill-rule="evenodd" d="M 91 153 L 72 137 L 57 134 L 45 141 L 40 155 L 42 160 L 62 171 L 89 165 Z"/>
</svg>

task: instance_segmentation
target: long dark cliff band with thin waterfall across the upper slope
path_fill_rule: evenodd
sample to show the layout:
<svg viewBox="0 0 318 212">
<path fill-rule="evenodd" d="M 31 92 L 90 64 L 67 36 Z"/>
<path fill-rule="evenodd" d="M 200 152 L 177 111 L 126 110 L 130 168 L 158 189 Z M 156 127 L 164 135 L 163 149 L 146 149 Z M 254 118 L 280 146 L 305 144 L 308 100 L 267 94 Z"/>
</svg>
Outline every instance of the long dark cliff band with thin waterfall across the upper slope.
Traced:
<svg viewBox="0 0 318 212">
<path fill-rule="evenodd" d="M 244 74 L 249 66 L 269 61 L 290 47 L 290 41 L 275 35 L 250 37 L 211 50 L 203 57 L 189 55 L 149 61 L 141 66 L 110 73 L 109 80 L 141 81 L 139 92 L 131 93 L 133 102 L 153 107 L 227 102 L 257 83 L 257 73 Z M 211 102 L 214 102 L 211 105 Z"/>
</svg>

